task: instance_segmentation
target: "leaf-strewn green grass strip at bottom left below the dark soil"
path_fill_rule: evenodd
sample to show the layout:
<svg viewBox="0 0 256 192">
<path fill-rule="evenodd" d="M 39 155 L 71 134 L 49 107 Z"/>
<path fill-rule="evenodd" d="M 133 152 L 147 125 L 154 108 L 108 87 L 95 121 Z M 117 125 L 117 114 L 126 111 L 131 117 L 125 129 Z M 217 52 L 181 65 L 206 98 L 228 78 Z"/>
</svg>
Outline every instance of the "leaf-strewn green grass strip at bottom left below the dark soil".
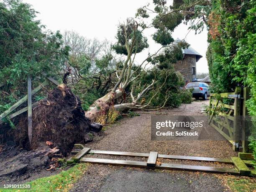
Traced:
<svg viewBox="0 0 256 192">
<path fill-rule="evenodd" d="M 26 183 L 30 184 L 30 189 L 0 189 L 0 192 L 67 192 L 77 179 L 82 177 L 85 170 L 86 164 L 76 164 L 67 171 Z"/>
</svg>

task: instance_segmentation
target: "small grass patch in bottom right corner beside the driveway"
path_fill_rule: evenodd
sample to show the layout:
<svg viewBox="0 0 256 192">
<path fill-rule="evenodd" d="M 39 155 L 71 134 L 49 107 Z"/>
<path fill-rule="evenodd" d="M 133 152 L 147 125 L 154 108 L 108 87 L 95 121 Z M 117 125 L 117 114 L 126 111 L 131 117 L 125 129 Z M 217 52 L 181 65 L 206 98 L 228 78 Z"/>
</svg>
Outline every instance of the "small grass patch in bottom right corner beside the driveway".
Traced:
<svg viewBox="0 0 256 192">
<path fill-rule="evenodd" d="M 256 189 L 254 178 L 228 178 L 227 184 L 234 192 L 252 192 Z"/>
</svg>

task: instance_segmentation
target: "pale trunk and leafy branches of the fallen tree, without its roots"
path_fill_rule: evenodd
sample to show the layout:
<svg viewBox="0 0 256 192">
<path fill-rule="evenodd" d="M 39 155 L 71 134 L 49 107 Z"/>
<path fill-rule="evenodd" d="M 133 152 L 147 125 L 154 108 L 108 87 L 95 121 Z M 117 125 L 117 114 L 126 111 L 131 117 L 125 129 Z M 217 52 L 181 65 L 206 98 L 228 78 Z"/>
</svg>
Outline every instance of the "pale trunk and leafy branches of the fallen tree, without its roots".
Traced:
<svg viewBox="0 0 256 192">
<path fill-rule="evenodd" d="M 132 108 L 148 110 L 152 108 L 161 109 L 166 105 L 166 102 L 170 98 L 168 91 L 173 89 L 173 87 L 168 88 L 168 86 L 166 86 L 169 84 L 169 79 L 172 79 L 169 74 L 162 73 L 162 75 L 165 75 L 163 77 L 165 80 L 161 81 L 162 84 L 156 84 L 157 78 L 159 77 L 151 78 L 151 82 L 147 82 L 146 87 L 138 87 L 136 84 L 138 83 L 138 79 L 141 80 L 141 77 L 146 76 L 145 73 L 148 73 L 148 69 L 146 68 L 147 66 L 152 67 L 152 65 L 155 65 L 155 68 L 158 70 L 172 69 L 171 64 L 183 58 L 182 48 L 188 46 L 188 44 L 183 41 L 179 44 L 171 44 L 173 42 L 172 37 L 169 37 L 170 39 L 168 44 L 166 44 L 166 41 L 156 41 L 161 44 L 160 49 L 154 54 L 148 54 L 141 64 L 136 65 L 134 62 L 136 55 L 143 51 L 143 49 L 148 48 L 147 39 L 143 37 L 143 30 L 144 28 L 140 28 L 140 25 L 133 18 L 128 18 L 126 23 L 121 23 L 119 25 L 116 36 L 118 41 L 113 45 L 113 49 L 117 54 L 125 55 L 125 60 L 123 64 L 116 66 L 117 82 L 113 86 L 112 90 L 97 99 L 90 106 L 89 110 L 85 112 L 85 116 L 87 118 L 95 120 L 98 116 L 106 114 L 110 106 L 114 106 L 116 110 L 127 110 Z M 175 77 L 179 76 L 178 79 L 181 79 L 181 76 L 177 74 L 177 72 L 172 74 L 174 74 Z M 168 84 L 166 84 L 166 82 L 168 82 Z M 174 85 L 175 90 L 184 85 L 184 83 L 177 83 L 177 81 L 173 81 L 172 84 Z M 154 85 L 157 85 L 157 87 Z M 137 90 L 141 90 L 138 92 L 138 96 L 136 98 L 133 96 L 133 88 L 131 87 L 137 87 Z M 162 88 L 165 88 L 165 90 Z M 146 97 L 147 101 L 144 101 L 144 105 L 139 104 L 139 100 L 141 100 L 142 96 L 149 90 L 154 90 L 156 92 L 155 94 Z M 157 97 L 157 94 L 160 94 L 160 91 L 164 91 L 166 93 L 166 97 L 164 99 L 165 102 L 161 103 L 161 106 L 152 107 L 151 101 Z M 130 96 L 131 102 L 124 102 L 126 95 Z M 115 101 L 120 97 L 125 98 L 122 98 L 121 103 L 117 104 Z"/>
</svg>

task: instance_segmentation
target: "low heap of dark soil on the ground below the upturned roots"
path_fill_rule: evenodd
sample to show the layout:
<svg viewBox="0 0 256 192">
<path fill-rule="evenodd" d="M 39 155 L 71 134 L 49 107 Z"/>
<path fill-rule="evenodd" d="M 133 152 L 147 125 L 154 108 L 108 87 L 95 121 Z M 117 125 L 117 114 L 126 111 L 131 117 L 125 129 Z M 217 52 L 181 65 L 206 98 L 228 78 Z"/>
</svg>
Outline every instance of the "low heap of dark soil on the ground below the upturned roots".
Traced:
<svg viewBox="0 0 256 192">
<path fill-rule="evenodd" d="M 59 167 L 59 162 L 54 158 L 55 154 L 47 155 L 51 151 L 47 146 L 37 148 L 36 151 L 28 151 L 8 141 L 0 148 L 0 187 L 4 184 L 22 184 L 58 174 L 62 170 L 51 169 L 51 167 Z"/>
</svg>

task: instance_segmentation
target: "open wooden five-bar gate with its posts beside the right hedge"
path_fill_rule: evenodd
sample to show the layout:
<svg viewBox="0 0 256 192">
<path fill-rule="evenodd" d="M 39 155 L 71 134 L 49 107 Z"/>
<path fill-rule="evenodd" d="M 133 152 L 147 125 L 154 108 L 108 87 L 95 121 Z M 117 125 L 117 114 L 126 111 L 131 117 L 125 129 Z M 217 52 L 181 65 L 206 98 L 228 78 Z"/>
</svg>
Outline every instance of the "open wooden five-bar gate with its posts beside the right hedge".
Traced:
<svg viewBox="0 0 256 192">
<path fill-rule="evenodd" d="M 227 98 L 229 104 L 225 104 Z M 245 128 L 244 120 L 248 115 L 245 102 L 248 98 L 248 87 L 244 87 L 243 90 L 241 87 L 236 87 L 235 92 L 210 94 L 209 124 L 230 141 L 233 150 L 236 151 L 242 146 L 243 152 L 248 152 L 248 141 L 246 141 L 245 134 L 237 135 L 241 134 L 238 130 L 241 130 L 242 127 Z M 234 136 L 244 139 L 233 141 Z"/>
</svg>

